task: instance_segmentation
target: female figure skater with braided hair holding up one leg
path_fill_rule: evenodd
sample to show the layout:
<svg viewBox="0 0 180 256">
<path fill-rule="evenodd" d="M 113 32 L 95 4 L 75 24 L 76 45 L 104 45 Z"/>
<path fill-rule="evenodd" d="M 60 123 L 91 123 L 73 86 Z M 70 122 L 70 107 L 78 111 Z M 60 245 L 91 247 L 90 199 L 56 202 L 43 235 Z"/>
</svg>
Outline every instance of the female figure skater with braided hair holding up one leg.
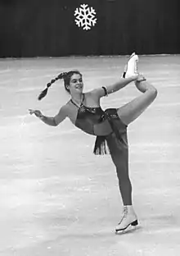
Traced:
<svg viewBox="0 0 180 256">
<path fill-rule="evenodd" d="M 119 190 L 124 203 L 124 212 L 116 226 L 115 231 L 124 231 L 128 226 L 137 226 L 137 215 L 132 205 L 132 185 L 128 176 L 128 139 L 127 127 L 139 117 L 157 95 L 154 86 L 146 82 L 142 75 L 137 74 L 138 57 L 131 55 L 121 78 L 114 85 L 92 89 L 83 94 L 83 79 L 79 71 L 61 73 L 47 84 L 47 88 L 39 95 L 40 100 L 47 94 L 47 89 L 59 79 L 65 82 L 65 90 L 71 98 L 68 103 L 61 107 L 55 117 L 45 117 L 38 110 L 29 110 L 49 126 L 58 126 L 66 117 L 79 129 L 90 135 L 96 135 L 94 153 L 103 154 L 110 152 L 115 164 L 119 179 Z M 103 111 L 100 99 L 108 94 L 115 93 L 134 81 L 137 89 L 142 92 L 140 96 L 130 103 L 119 108 L 109 108 Z"/>
</svg>

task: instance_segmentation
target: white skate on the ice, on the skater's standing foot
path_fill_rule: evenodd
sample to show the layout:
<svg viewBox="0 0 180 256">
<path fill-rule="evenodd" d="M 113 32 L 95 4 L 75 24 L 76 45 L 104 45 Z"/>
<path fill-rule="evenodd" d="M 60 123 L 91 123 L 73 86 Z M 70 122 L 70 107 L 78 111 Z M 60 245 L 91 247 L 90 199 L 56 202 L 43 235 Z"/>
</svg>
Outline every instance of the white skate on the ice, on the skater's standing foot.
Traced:
<svg viewBox="0 0 180 256">
<path fill-rule="evenodd" d="M 128 226 L 137 226 L 137 215 L 134 213 L 132 205 L 124 206 L 123 217 L 119 222 L 118 226 L 115 227 L 115 233 L 119 231 L 125 231 Z"/>
</svg>

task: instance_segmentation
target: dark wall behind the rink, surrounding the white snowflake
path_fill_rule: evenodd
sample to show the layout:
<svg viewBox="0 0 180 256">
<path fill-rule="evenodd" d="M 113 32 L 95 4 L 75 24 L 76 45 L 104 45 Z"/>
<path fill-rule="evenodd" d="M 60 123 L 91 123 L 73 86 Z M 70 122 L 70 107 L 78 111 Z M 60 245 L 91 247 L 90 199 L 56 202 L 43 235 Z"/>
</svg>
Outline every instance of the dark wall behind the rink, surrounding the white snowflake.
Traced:
<svg viewBox="0 0 180 256">
<path fill-rule="evenodd" d="M 74 10 L 97 11 L 91 30 Z M 180 53 L 179 0 L 0 0 L 0 57 Z"/>
</svg>

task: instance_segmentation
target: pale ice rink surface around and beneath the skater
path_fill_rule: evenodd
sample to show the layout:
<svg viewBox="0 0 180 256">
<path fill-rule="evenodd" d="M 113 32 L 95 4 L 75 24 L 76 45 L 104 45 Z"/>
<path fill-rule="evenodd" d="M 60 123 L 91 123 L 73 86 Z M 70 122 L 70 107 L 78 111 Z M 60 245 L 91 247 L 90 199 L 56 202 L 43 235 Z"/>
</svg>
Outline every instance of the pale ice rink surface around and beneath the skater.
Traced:
<svg viewBox="0 0 180 256">
<path fill-rule="evenodd" d="M 180 254 L 180 57 L 140 57 L 139 71 L 158 97 L 128 127 L 129 171 L 140 225 L 115 235 L 122 202 L 110 156 L 92 154 L 95 138 L 68 120 L 46 126 L 69 95 L 61 71 L 78 69 L 85 90 L 119 79 L 126 57 L 0 60 L 0 255 L 176 256 Z M 132 84 L 101 101 L 120 107 L 140 93 Z"/>
</svg>

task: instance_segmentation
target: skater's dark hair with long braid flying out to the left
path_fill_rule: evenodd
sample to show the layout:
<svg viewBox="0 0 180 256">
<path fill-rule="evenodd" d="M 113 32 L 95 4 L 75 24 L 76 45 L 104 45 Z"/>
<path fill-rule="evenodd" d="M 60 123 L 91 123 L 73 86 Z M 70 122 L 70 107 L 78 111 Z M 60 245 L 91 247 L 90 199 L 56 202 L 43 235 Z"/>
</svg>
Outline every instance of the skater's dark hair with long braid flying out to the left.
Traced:
<svg viewBox="0 0 180 256">
<path fill-rule="evenodd" d="M 70 78 L 72 75 L 74 74 L 78 74 L 81 75 L 82 74 L 79 71 L 69 71 L 69 72 L 63 72 L 60 75 L 57 75 L 56 78 L 52 79 L 49 83 L 47 83 L 47 88 L 44 89 L 41 94 L 39 94 L 38 96 L 38 100 L 41 100 L 42 98 L 44 98 L 47 95 L 47 90 L 48 88 L 56 82 L 56 80 L 59 79 L 63 79 L 64 80 L 64 85 L 65 85 L 65 90 L 70 94 L 70 89 L 68 89 L 67 85 L 70 85 Z"/>
</svg>

